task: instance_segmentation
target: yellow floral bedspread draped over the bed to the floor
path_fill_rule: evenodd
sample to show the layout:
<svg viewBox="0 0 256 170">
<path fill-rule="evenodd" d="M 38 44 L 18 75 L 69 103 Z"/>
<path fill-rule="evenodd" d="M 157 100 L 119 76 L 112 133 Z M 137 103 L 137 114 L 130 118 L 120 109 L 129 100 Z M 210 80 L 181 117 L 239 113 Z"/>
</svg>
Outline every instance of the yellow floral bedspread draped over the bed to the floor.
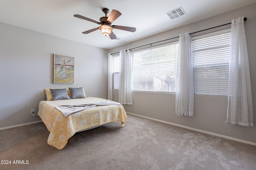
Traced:
<svg viewBox="0 0 256 170">
<path fill-rule="evenodd" d="M 47 143 L 60 150 L 66 146 L 70 137 L 83 129 L 115 121 L 120 121 L 124 126 L 127 115 L 122 105 L 97 106 L 73 113 L 68 117 L 64 117 L 55 108 L 55 106 L 90 104 L 101 101 L 106 101 L 106 99 L 87 97 L 83 99 L 41 101 L 38 115 L 50 131 Z"/>
</svg>

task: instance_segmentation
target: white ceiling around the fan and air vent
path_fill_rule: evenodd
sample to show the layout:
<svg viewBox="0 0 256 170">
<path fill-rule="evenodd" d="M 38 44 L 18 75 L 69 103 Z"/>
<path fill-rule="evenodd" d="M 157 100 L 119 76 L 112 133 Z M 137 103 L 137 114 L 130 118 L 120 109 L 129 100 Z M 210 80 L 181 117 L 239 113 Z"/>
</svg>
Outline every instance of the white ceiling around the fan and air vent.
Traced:
<svg viewBox="0 0 256 170">
<path fill-rule="evenodd" d="M 253 3 L 256 0 L 0 0 L 0 22 L 110 49 Z M 186 15 L 174 20 L 165 15 L 179 7 Z M 82 34 L 99 25 L 74 14 L 99 21 L 105 16 L 102 8 L 120 11 L 113 25 L 136 27 L 136 32 L 114 29 L 120 40 L 99 30 Z"/>
</svg>

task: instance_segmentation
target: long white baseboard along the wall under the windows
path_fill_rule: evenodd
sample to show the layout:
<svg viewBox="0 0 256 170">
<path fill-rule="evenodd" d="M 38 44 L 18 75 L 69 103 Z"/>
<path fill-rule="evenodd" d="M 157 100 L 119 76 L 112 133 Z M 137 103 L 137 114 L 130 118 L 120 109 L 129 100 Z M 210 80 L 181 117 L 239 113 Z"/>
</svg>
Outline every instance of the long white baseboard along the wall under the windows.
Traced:
<svg viewBox="0 0 256 170">
<path fill-rule="evenodd" d="M 192 130 L 192 131 L 198 131 L 198 132 L 206 133 L 206 134 L 209 134 L 209 135 L 214 135 L 214 136 L 218 136 L 218 137 L 223 137 L 223 138 L 230 139 L 230 140 L 233 140 L 233 141 L 238 141 L 238 142 L 247 143 L 247 144 L 256 146 L 256 143 L 253 143 L 253 142 L 244 141 L 244 140 L 241 140 L 241 139 L 236 139 L 236 138 L 233 138 L 233 137 L 228 137 L 228 136 L 225 136 L 225 135 L 220 135 L 220 134 L 212 133 L 212 132 L 208 132 L 208 131 L 202 131 L 202 130 L 200 130 L 200 129 L 195 129 L 195 128 L 192 128 L 192 127 L 187 127 L 187 126 L 183 126 L 183 125 L 179 125 L 179 124 L 175 124 L 175 123 L 170 123 L 170 122 L 168 122 L 168 121 L 162 121 L 162 120 L 154 119 L 154 118 L 151 118 L 151 117 L 146 117 L 146 116 L 142 116 L 142 115 L 137 115 L 137 114 L 130 113 L 130 112 L 126 112 L 126 113 L 127 113 L 127 114 L 130 114 L 130 115 L 134 115 L 134 116 L 138 116 L 138 117 L 143 117 L 143 118 L 146 118 L 146 119 L 154 120 L 154 121 L 159 121 L 159 122 L 162 122 L 162 123 L 167 123 L 167 124 L 169 124 L 169 125 L 174 125 L 174 126 L 178 126 L 178 127 L 183 127 L 183 128 L 185 128 L 185 129 L 190 129 L 190 130 Z"/>
</svg>

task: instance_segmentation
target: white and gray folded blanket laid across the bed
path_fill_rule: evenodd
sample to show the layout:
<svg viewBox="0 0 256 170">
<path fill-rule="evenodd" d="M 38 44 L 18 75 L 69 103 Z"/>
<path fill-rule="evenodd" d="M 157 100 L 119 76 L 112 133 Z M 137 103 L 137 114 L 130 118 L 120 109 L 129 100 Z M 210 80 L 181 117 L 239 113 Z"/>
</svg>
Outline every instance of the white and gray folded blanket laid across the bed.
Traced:
<svg viewBox="0 0 256 170">
<path fill-rule="evenodd" d="M 68 117 L 69 115 L 76 113 L 78 111 L 82 111 L 84 109 L 90 109 L 90 108 L 96 107 L 96 106 L 108 106 L 108 105 L 121 105 L 121 104 L 118 102 L 106 100 L 104 102 L 96 102 L 96 103 L 90 103 L 90 104 L 55 106 L 55 108 L 58 109 L 59 111 L 61 111 L 65 117 Z"/>
</svg>

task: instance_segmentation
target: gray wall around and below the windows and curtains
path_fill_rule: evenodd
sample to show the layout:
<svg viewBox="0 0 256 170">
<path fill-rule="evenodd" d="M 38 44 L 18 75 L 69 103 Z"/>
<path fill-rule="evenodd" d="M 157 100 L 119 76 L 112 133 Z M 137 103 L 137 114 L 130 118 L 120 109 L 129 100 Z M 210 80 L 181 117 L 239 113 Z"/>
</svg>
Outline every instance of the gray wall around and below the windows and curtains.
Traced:
<svg viewBox="0 0 256 170">
<path fill-rule="evenodd" d="M 245 22 L 246 41 L 250 62 L 250 76 L 252 82 L 252 97 L 254 104 L 254 127 L 243 127 L 224 123 L 226 121 L 227 98 L 211 96 L 194 96 L 194 117 L 178 117 L 175 114 L 175 94 L 160 94 L 148 92 L 133 92 L 133 105 L 124 105 L 127 112 L 176 123 L 202 131 L 217 133 L 236 139 L 256 143 L 256 4 L 239 8 L 206 20 L 179 27 L 152 37 L 134 41 L 132 43 L 110 49 L 115 53 L 120 49 L 134 48 L 156 41 L 177 37 L 180 33 L 195 32 L 225 23 L 240 16 L 247 17 Z M 118 91 L 114 90 L 113 99 L 118 101 Z"/>
</svg>

